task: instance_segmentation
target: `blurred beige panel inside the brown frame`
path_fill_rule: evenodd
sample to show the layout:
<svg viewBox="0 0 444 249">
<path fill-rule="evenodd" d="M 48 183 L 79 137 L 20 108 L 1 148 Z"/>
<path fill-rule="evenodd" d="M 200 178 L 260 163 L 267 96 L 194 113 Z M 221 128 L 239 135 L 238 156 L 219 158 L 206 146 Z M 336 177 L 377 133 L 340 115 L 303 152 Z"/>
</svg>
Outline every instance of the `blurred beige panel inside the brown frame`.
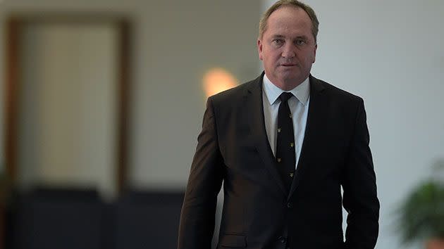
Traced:
<svg viewBox="0 0 444 249">
<path fill-rule="evenodd" d="M 27 24 L 20 39 L 18 184 L 116 193 L 118 30 Z"/>
</svg>

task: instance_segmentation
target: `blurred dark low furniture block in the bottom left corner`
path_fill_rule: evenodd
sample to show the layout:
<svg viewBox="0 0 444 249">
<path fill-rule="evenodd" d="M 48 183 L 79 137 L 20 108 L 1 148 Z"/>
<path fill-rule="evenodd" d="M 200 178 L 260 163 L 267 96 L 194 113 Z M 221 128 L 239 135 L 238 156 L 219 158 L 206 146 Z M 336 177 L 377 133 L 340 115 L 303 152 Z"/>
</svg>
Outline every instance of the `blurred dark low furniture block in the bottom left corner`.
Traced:
<svg viewBox="0 0 444 249">
<path fill-rule="evenodd" d="M 94 190 L 40 188 L 18 195 L 11 248 L 103 248 L 102 210 Z"/>
</svg>

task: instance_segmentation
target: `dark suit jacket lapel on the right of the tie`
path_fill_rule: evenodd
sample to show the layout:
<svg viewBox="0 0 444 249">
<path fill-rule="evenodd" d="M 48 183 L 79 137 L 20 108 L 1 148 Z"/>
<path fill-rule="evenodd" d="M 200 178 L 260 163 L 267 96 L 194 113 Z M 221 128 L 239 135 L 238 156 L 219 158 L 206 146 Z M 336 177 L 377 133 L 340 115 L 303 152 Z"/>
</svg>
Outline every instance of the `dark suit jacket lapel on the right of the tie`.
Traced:
<svg viewBox="0 0 444 249">
<path fill-rule="evenodd" d="M 297 163 L 295 172 L 295 178 L 292 181 L 290 187 L 290 194 L 288 200 L 290 200 L 292 194 L 295 192 L 300 179 L 303 177 L 304 170 L 307 170 L 307 163 L 310 155 L 316 154 L 316 143 L 321 141 L 321 137 L 318 136 L 316 129 L 322 127 L 324 119 L 326 117 L 326 111 L 328 110 L 328 102 L 324 94 L 324 88 L 318 79 L 309 76 L 310 80 L 310 103 L 309 112 L 307 117 L 307 126 L 305 128 L 304 141 L 302 142 L 302 150 L 300 160 Z"/>
</svg>

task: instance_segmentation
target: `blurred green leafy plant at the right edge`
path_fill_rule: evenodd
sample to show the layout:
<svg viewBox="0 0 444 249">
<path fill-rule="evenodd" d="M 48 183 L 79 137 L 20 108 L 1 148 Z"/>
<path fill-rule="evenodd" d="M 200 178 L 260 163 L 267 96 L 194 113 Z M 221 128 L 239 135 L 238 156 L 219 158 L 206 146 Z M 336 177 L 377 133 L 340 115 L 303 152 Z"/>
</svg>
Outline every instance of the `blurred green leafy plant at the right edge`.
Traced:
<svg viewBox="0 0 444 249">
<path fill-rule="evenodd" d="M 400 206 L 400 231 L 405 243 L 426 241 L 426 249 L 444 249 L 444 160 L 436 163 L 433 177 L 409 193 Z"/>
</svg>

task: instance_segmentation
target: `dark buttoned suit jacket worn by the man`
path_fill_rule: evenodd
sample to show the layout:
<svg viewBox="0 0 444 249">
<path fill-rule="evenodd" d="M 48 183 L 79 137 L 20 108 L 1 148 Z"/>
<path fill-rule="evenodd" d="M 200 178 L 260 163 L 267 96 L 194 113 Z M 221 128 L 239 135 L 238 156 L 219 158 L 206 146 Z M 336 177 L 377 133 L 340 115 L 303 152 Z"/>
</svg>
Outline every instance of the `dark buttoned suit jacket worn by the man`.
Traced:
<svg viewBox="0 0 444 249">
<path fill-rule="evenodd" d="M 288 240 L 298 249 L 374 248 L 379 202 L 362 98 L 310 75 L 307 129 L 288 192 L 266 135 L 263 76 L 207 101 L 178 248 L 211 248 L 222 182 L 218 248 L 286 248 Z"/>
</svg>

